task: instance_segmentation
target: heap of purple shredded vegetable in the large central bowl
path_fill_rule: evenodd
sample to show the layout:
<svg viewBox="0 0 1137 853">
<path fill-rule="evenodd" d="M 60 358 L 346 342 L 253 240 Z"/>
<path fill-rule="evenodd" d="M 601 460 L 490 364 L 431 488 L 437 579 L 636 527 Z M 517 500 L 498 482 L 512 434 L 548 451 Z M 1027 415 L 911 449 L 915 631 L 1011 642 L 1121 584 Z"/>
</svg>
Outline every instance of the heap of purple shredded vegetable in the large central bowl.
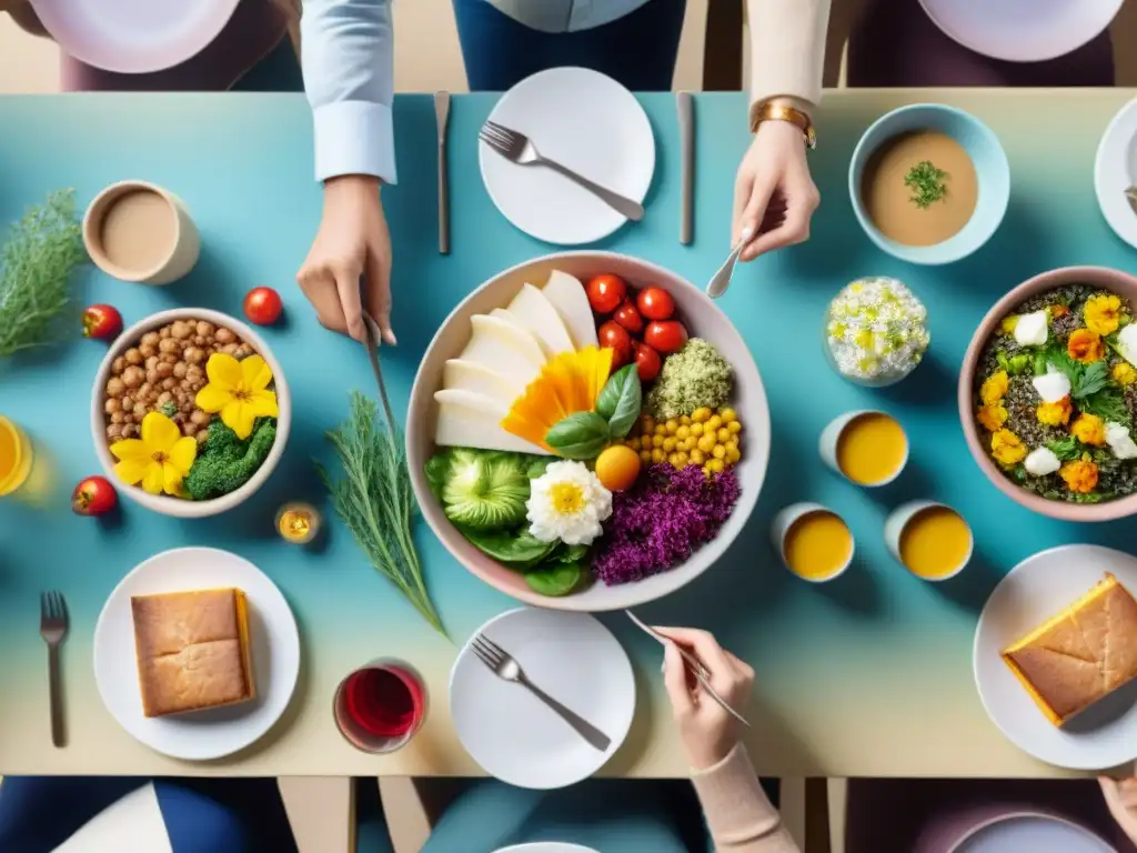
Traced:
<svg viewBox="0 0 1137 853">
<path fill-rule="evenodd" d="M 652 465 L 626 491 L 612 495 L 612 516 L 592 557 L 608 586 L 642 580 L 691 556 L 719 535 L 738 500 L 731 469 L 707 478 L 699 465 Z"/>
</svg>

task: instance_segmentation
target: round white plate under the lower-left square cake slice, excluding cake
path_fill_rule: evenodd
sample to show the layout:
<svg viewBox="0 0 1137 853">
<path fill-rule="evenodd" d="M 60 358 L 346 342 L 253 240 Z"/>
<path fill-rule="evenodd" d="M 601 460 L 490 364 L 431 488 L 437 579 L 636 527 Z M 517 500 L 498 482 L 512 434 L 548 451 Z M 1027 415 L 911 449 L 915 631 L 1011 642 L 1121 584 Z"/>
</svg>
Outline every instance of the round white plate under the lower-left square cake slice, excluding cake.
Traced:
<svg viewBox="0 0 1137 853">
<path fill-rule="evenodd" d="M 236 587 L 248 599 L 257 697 L 207 711 L 143 717 L 131 596 L 216 587 Z M 284 713 L 299 672 L 300 635 L 288 602 L 264 572 L 227 550 L 156 554 L 119 581 L 94 627 L 94 679 L 107 710 L 135 738 L 175 759 L 219 759 L 257 740 Z"/>
</svg>

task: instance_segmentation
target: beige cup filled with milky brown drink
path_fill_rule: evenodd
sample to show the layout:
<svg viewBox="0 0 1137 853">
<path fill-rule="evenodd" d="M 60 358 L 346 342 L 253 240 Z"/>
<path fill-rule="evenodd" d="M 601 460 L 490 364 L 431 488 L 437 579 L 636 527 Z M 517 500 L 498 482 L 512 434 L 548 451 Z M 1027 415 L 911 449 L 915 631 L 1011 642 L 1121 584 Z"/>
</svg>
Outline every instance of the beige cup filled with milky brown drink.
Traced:
<svg viewBox="0 0 1137 853">
<path fill-rule="evenodd" d="M 201 250 L 185 204 L 146 181 L 122 181 L 96 196 L 83 216 L 83 243 L 107 275 L 141 284 L 177 281 Z"/>
</svg>

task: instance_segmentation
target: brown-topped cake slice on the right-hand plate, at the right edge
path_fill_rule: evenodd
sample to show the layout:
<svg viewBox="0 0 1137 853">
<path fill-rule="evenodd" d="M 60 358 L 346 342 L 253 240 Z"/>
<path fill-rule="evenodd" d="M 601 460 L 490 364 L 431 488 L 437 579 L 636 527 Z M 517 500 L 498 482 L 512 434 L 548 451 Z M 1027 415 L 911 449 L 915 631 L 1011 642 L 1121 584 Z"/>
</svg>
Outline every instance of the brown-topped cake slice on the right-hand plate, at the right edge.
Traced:
<svg viewBox="0 0 1137 853">
<path fill-rule="evenodd" d="M 1112 574 L 1003 651 L 1055 726 L 1137 677 L 1137 601 Z"/>
</svg>

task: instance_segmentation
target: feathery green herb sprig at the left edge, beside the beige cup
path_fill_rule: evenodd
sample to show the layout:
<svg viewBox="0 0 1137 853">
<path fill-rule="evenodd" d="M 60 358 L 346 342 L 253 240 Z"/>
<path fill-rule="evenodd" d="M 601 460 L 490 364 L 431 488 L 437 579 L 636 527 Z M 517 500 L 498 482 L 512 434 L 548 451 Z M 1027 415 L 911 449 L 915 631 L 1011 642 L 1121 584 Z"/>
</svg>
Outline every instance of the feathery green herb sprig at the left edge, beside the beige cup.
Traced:
<svg viewBox="0 0 1137 853">
<path fill-rule="evenodd" d="M 11 226 L 0 249 L 0 358 L 49 341 L 85 259 L 72 190 L 51 193 Z"/>
</svg>

